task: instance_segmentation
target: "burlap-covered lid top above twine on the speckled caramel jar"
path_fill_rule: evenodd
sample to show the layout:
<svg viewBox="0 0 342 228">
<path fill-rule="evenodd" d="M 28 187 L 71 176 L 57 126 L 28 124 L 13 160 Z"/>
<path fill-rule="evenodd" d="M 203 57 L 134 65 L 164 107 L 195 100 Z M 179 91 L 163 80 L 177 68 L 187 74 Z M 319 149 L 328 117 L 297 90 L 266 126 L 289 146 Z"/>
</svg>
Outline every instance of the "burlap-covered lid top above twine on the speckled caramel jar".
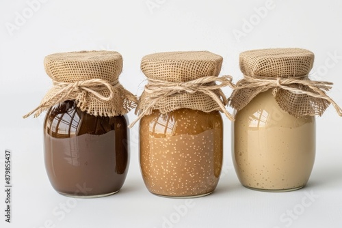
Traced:
<svg viewBox="0 0 342 228">
<path fill-rule="evenodd" d="M 218 76 L 222 61 L 220 55 L 209 51 L 177 51 L 146 55 L 140 67 L 148 79 L 180 83 Z"/>
</svg>

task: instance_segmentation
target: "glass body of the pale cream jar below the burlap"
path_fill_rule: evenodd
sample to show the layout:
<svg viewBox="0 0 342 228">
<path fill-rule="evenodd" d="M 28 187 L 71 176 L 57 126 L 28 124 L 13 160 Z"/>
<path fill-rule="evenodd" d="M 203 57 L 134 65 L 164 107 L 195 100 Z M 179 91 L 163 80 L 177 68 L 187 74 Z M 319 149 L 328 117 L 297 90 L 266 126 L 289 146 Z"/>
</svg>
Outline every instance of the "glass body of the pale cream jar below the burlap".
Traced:
<svg viewBox="0 0 342 228">
<path fill-rule="evenodd" d="M 235 171 L 247 188 L 289 191 L 308 182 L 315 161 L 315 117 L 282 111 L 272 90 L 235 113 L 232 137 Z"/>
</svg>

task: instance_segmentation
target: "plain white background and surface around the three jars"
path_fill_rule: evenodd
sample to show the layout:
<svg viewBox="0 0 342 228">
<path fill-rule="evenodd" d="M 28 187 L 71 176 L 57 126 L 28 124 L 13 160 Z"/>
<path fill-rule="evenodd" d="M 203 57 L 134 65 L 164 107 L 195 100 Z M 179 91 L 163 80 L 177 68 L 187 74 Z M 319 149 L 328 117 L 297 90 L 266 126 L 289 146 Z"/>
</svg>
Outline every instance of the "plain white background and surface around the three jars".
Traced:
<svg viewBox="0 0 342 228">
<path fill-rule="evenodd" d="M 242 187 L 231 161 L 231 122 L 224 117 L 224 172 L 218 188 L 192 201 L 157 197 L 146 190 L 138 163 L 138 124 L 131 130 L 129 173 L 119 193 L 79 200 L 58 195 L 44 169 L 44 115 L 22 119 L 51 87 L 44 57 L 82 50 L 121 53 L 120 82 L 140 95 L 144 87 L 140 60 L 150 53 L 211 51 L 224 57 L 220 75 L 231 74 L 236 82 L 241 79 L 242 51 L 306 48 L 315 53 L 311 78 L 333 82 L 328 95 L 342 105 L 341 12 L 340 0 L 1 1 L 3 186 L 5 149 L 12 149 L 13 161 L 12 223 L 4 221 L 1 190 L 1 227 L 341 227 L 342 118 L 332 106 L 317 117 L 317 156 L 306 188 L 262 193 Z M 238 31 L 241 37 L 234 35 Z M 231 89 L 223 90 L 231 94 Z M 134 118 L 129 113 L 130 122 Z"/>
</svg>

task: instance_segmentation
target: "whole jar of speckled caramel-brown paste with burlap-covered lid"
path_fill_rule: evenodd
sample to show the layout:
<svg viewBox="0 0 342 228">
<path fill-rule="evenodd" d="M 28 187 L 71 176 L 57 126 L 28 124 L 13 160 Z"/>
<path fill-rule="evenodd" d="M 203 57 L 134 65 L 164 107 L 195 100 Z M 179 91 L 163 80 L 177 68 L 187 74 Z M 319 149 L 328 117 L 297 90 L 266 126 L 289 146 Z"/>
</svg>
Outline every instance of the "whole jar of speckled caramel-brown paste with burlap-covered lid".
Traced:
<svg viewBox="0 0 342 228">
<path fill-rule="evenodd" d="M 149 83 L 183 83 L 217 77 L 221 65 L 222 57 L 206 51 L 157 53 L 142 59 L 142 72 Z M 158 97 L 153 104 L 149 100 L 153 93 L 146 90 L 137 106 L 140 111 L 150 109 L 140 120 L 140 167 L 146 187 L 164 197 L 212 193 L 222 169 L 220 107 L 207 94 L 182 89 L 172 96 Z M 214 92 L 220 96 L 220 89 Z"/>
</svg>

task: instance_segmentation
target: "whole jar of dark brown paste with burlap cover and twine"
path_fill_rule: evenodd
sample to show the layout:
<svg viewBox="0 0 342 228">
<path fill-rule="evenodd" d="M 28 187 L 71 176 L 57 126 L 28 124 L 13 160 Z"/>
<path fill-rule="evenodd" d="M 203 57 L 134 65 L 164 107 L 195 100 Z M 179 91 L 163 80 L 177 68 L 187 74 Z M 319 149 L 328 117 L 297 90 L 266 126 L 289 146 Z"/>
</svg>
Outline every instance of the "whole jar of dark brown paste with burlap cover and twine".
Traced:
<svg viewBox="0 0 342 228">
<path fill-rule="evenodd" d="M 44 162 L 53 188 L 72 197 L 104 197 L 129 168 L 127 113 L 137 99 L 118 82 L 114 51 L 55 53 L 44 59 L 53 87 L 28 113 L 44 119 Z"/>
</svg>

